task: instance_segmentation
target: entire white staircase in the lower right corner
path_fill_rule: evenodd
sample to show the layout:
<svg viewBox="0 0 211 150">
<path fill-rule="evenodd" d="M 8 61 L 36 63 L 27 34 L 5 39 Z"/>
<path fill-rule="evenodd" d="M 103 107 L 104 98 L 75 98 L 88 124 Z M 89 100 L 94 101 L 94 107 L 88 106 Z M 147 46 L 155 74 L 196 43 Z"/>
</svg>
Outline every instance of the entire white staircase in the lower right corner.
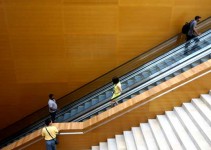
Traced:
<svg viewBox="0 0 211 150">
<path fill-rule="evenodd" d="M 100 142 L 92 150 L 211 150 L 211 93 Z"/>
</svg>

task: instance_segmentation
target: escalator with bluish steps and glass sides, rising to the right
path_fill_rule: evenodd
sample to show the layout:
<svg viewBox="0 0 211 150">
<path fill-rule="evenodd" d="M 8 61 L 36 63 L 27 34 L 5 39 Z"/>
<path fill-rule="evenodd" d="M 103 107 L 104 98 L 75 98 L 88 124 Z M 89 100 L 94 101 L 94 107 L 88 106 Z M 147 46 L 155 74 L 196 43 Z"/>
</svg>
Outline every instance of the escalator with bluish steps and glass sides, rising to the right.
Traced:
<svg viewBox="0 0 211 150">
<path fill-rule="evenodd" d="M 169 47 L 162 47 L 165 43 L 174 41 L 175 37 L 173 37 L 148 53 L 136 57 L 128 63 L 129 65 L 126 63 L 116 70 L 113 70 L 113 72 L 100 77 L 99 80 L 106 78 L 107 83 L 103 83 L 100 88 L 89 94 L 85 93 L 85 95 L 83 95 L 82 98 L 78 98 L 77 101 L 63 106 L 58 112 L 56 122 L 84 121 L 110 109 L 110 98 L 112 96 L 113 87 L 108 81 L 114 74 L 120 77 L 122 83 L 123 93 L 118 97 L 118 102 L 122 103 L 135 95 L 143 93 L 144 91 L 207 61 L 211 58 L 211 30 L 209 30 L 211 25 L 207 23 L 210 22 L 210 20 L 211 19 L 208 18 L 204 21 L 204 24 L 206 24 L 206 32 L 198 37 L 198 43 L 195 43 L 194 40 L 192 40 L 190 41 L 188 48 L 187 43 L 179 45 L 179 43 L 175 44 L 175 42 Z M 156 52 L 156 50 L 159 49 L 161 50 Z M 152 60 L 145 62 L 143 58 L 149 57 Z M 140 63 L 140 60 L 143 62 Z M 120 70 L 119 73 L 115 73 L 118 72 L 118 70 Z M 94 82 L 91 84 L 93 85 Z M 87 85 L 87 88 L 89 88 L 89 85 Z M 71 98 L 71 95 L 67 95 L 67 97 Z M 68 99 L 67 97 L 64 99 Z M 66 102 L 60 105 L 64 104 L 66 104 Z M 0 142 L 0 147 L 8 145 L 34 130 L 42 128 L 45 119 L 46 117 L 43 117 L 33 125 L 20 130 L 9 138 L 5 138 Z"/>
</svg>

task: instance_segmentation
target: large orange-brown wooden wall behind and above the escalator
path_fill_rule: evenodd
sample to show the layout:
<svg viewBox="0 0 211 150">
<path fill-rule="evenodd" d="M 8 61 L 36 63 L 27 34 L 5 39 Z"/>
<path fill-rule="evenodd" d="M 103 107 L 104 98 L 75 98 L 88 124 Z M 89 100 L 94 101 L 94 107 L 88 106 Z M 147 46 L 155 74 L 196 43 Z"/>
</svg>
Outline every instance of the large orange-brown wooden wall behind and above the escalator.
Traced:
<svg viewBox="0 0 211 150">
<path fill-rule="evenodd" d="M 210 0 L 0 0 L 0 129 L 210 9 Z"/>
</svg>

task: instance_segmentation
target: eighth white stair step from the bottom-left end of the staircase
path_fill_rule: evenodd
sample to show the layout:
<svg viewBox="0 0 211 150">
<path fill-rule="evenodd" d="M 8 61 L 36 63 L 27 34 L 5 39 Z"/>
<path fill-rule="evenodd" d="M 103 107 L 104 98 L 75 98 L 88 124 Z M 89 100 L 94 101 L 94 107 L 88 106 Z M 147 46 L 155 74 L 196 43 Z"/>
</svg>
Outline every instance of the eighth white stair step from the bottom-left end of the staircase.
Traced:
<svg viewBox="0 0 211 150">
<path fill-rule="evenodd" d="M 156 119 L 149 119 L 148 122 L 159 149 L 170 150 L 158 121 Z"/>
</svg>

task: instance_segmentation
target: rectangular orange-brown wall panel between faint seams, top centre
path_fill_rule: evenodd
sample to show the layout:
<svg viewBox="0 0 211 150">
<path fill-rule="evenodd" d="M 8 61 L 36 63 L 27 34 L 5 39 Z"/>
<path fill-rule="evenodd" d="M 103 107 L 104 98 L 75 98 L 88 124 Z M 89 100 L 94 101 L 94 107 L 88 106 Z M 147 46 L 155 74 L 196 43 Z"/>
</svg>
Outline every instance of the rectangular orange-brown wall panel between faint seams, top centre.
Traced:
<svg viewBox="0 0 211 150">
<path fill-rule="evenodd" d="M 116 34 L 117 6 L 64 6 L 65 34 Z M 102 17 L 103 16 L 103 17 Z"/>
</svg>

